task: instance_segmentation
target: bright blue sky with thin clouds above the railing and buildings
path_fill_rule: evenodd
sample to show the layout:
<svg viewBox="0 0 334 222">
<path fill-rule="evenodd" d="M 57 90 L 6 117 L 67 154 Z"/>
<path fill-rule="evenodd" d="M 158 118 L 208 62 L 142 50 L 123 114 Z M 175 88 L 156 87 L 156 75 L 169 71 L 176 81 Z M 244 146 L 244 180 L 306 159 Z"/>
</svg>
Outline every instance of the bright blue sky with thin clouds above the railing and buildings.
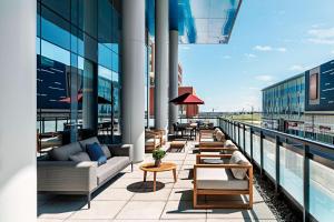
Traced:
<svg viewBox="0 0 334 222">
<path fill-rule="evenodd" d="M 333 0 L 243 0 L 228 44 L 180 44 L 200 111 L 262 110 L 261 90 L 334 59 Z"/>
</svg>

